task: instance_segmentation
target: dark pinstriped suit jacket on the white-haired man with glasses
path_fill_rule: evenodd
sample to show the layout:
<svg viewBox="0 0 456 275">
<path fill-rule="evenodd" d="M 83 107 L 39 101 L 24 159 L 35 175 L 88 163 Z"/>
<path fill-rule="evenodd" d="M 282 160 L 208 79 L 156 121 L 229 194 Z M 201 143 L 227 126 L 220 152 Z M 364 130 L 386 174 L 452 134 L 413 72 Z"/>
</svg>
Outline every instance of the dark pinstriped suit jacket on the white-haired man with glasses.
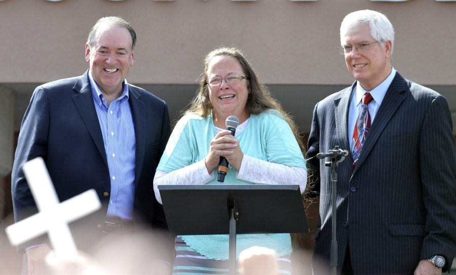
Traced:
<svg viewBox="0 0 456 275">
<path fill-rule="evenodd" d="M 315 106 L 308 158 L 335 145 L 349 149 L 355 85 Z M 456 253 L 456 149 L 446 99 L 396 73 L 356 168 L 352 163 L 350 155 L 337 168 L 339 272 L 347 251 L 357 274 L 412 274 L 432 255 L 445 256 L 444 270 L 450 267 Z M 320 182 L 314 272 L 329 274 L 331 169 L 316 158 L 309 165 Z"/>
</svg>

